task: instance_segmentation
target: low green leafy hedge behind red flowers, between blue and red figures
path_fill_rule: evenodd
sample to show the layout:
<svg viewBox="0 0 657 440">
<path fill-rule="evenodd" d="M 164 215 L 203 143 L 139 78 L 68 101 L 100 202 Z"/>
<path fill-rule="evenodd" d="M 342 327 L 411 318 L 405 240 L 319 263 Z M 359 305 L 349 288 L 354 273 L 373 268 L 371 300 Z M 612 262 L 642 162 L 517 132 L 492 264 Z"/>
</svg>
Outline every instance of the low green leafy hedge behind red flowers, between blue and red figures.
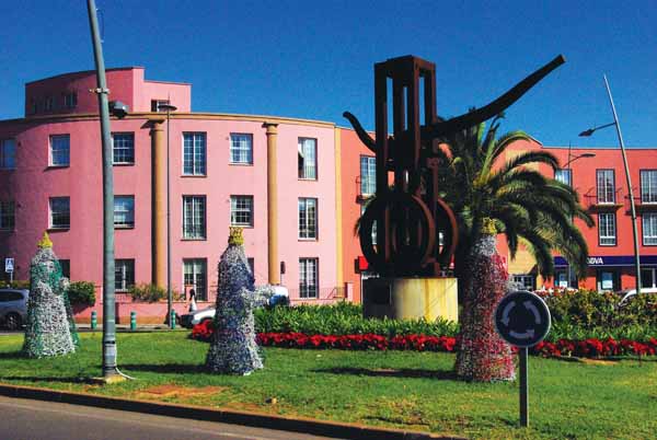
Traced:
<svg viewBox="0 0 657 440">
<path fill-rule="evenodd" d="M 257 309 L 257 332 L 297 332 L 307 335 L 355 335 L 372 333 L 396 336 L 424 334 L 456 336 L 458 324 L 448 321 L 397 321 L 362 317 L 360 304 L 339 302 L 332 305 L 297 305 L 292 308 Z"/>
</svg>

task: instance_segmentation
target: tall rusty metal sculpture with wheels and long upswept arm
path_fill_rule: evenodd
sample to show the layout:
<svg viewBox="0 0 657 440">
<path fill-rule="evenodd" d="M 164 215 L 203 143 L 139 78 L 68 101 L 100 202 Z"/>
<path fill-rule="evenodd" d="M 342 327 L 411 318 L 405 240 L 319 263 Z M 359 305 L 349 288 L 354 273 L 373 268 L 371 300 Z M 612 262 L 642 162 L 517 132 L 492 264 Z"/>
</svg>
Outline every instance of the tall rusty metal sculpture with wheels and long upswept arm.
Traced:
<svg viewBox="0 0 657 440">
<path fill-rule="evenodd" d="M 449 135 L 500 114 L 564 62 L 560 55 L 488 105 L 448 120 L 436 115 L 433 62 L 406 56 L 374 65 L 376 141 L 354 115 L 345 112 L 344 116 L 360 141 L 377 154 L 377 194 L 360 220 L 359 239 L 362 254 L 379 275 L 435 277 L 440 275 L 441 267 L 449 265 L 458 229 L 453 212 L 438 196 L 435 151 Z M 388 131 L 389 79 L 392 80 L 392 136 Z M 424 81 L 423 96 L 420 81 Z M 420 99 L 424 115 L 420 115 Z"/>
</svg>

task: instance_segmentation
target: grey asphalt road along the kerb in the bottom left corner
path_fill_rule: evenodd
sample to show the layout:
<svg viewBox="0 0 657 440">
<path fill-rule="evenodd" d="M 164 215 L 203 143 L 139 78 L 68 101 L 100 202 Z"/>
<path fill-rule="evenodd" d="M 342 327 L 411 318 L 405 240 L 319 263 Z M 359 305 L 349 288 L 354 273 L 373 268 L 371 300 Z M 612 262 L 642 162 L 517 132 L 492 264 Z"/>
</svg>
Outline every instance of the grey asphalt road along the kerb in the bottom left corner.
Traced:
<svg viewBox="0 0 657 440">
<path fill-rule="evenodd" d="M 325 437 L 0 396 L 4 440 L 321 440 Z"/>
</svg>

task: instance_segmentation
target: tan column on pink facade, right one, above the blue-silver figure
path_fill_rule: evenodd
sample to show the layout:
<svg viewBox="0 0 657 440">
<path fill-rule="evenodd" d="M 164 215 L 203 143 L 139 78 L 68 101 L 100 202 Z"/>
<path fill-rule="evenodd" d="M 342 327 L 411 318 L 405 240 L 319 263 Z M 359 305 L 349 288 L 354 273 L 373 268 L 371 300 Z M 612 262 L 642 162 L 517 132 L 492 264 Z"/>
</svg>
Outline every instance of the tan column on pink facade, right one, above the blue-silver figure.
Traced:
<svg viewBox="0 0 657 440">
<path fill-rule="evenodd" d="M 276 163 L 276 139 L 278 124 L 265 123 L 267 129 L 267 238 L 270 285 L 280 285 L 280 266 L 278 262 L 278 182 Z"/>
</svg>

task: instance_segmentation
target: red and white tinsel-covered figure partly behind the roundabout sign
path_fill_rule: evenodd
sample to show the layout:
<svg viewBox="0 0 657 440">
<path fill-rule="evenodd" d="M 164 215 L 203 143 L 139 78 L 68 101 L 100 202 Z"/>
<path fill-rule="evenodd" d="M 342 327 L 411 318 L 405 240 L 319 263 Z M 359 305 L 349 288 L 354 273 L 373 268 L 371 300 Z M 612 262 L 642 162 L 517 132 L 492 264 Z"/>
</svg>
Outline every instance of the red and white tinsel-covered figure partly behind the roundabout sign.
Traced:
<svg viewBox="0 0 657 440">
<path fill-rule="evenodd" d="M 507 381 L 516 377 L 511 348 L 497 335 L 493 322 L 508 279 L 495 241 L 494 234 L 479 238 L 460 278 L 465 298 L 454 369 L 459 378 L 468 381 Z"/>
</svg>

